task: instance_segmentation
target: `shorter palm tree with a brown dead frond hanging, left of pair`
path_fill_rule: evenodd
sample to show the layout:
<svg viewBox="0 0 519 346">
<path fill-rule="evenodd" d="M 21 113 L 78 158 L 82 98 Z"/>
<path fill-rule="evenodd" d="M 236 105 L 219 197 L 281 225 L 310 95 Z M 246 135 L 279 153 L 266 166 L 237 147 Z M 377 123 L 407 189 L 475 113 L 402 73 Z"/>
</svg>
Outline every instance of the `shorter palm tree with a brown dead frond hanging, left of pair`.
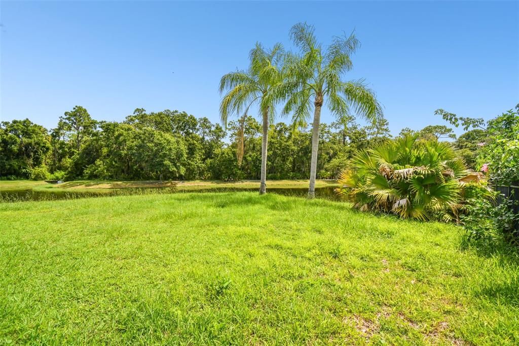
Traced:
<svg viewBox="0 0 519 346">
<path fill-rule="evenodd" d="M 274 121 L 276 103 L 289 92 L 283 78 L 283 57 L 281 44 L 266 50 L 256 43 L 250 52 L 249 69 L 227 73 L 220 81 L 220 94 L 228 90 L 220 104 L 220 117 L 225 127 L 231 114 L 240 116 L 243 113 L 244 117 L 254 103 L 260 110 L 263 120 L 260 194 L 264 194 L 267 187 L 268 124 Z"/>
</svg>

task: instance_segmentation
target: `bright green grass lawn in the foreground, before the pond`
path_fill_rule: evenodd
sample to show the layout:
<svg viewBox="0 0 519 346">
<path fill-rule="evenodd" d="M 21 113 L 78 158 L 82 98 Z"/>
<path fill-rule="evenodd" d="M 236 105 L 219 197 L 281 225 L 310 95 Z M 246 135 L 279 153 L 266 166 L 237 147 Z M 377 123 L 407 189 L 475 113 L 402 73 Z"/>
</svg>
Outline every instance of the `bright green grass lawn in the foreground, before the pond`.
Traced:
<svg viewBox="0 0 519 346">
<path fill-rule="evenodd" d="M 517 344 L 517 256 L 462 239 L 249 192 L 0 204 L 0 344 Z"/>
</svg>

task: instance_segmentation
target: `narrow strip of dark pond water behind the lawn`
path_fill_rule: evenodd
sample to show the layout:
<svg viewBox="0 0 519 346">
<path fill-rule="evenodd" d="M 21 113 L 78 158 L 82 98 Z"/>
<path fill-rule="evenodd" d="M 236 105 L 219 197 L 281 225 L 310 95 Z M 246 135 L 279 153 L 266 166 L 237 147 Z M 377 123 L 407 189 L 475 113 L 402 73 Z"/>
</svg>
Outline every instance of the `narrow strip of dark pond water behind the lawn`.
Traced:
<svg viewBox="0 0 519 346">
<path fill-rule="evenodd" d="M 211 188 L 199 190 L 177 190 L 175 188 L 127 188 L 127 189 L 104 189 L 104 190 L 0 190 L 0 203 L 20 201 L 57 201 L 59 199 L 76 199 L 87 197 L 104 196 L 129 196 L 143 194 L 169 194 L 169 193 L 199 193 L 199 192 L 257 192 L 257 188 Z M 276 193 L 286 196 L 306 197 L 308 188 L 270 188 L 268 193 Z M 316 198 L 333 199 L 339 198 L 334 192 L 334 187 L 316 188 Z"/>
</svg>

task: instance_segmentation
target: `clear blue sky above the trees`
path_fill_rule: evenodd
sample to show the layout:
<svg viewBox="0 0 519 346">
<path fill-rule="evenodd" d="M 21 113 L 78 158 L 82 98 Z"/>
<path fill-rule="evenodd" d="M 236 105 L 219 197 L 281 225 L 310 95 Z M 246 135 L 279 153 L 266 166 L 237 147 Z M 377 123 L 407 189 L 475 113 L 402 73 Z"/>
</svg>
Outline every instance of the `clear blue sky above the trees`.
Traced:
<svg viewBox="0 0 519 346">
<path fill-rule="evenodd" d="M 517 1 L 0 6 L 2 121 L 29 117 L 51 128 L 82 105 L 98 120 L 145 108 L 216 122 L 220 77 L 247 68 L 256 41 L 291 49 L 289 30 L 303 21 L 324 44 L 356 30 L 362 46 L 345 79 L 366 79 L 393 134 L 444 124 L 438 108 L 488 119 L 519 102 Z M 323 111 L 322 121 L 333 118 Z"/>
</svg>

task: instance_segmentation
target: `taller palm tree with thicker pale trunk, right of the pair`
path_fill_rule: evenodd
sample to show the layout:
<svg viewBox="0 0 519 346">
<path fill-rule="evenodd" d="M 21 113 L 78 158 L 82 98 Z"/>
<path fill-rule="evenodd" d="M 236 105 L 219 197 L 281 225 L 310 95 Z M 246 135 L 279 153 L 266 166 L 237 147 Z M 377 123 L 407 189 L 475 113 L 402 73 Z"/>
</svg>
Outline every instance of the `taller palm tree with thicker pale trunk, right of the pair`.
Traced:
<svg viewBox="0 0 519 346">
<path fill-rule="evenodd" d="M 294 124 L 305 124 L 310 117 L 313 101 L 312 157 L 308 189 L 308 198 L 313 198 L 319 124 L 324 102 L 337 117 L 350 115 L 353 110 L 369 121 L 376 121 L 383 114 L 374 92 L 366 87 L 362 79 L 349 82 L 341 80 L 342 75 L 352 68 L 350 55 L 360 45 L 354 33 L 334 37 L 332 44 L 324 52 L 316 40 L 313 26 L 306 23 L 295 24 L 290 34 L 294 44 L 301 49 L 301 55 L 288 56 L 289 75 L 298 82 L 299 87 L 286 102 L 283 114 L 293 114 Z"/>
</svg>

